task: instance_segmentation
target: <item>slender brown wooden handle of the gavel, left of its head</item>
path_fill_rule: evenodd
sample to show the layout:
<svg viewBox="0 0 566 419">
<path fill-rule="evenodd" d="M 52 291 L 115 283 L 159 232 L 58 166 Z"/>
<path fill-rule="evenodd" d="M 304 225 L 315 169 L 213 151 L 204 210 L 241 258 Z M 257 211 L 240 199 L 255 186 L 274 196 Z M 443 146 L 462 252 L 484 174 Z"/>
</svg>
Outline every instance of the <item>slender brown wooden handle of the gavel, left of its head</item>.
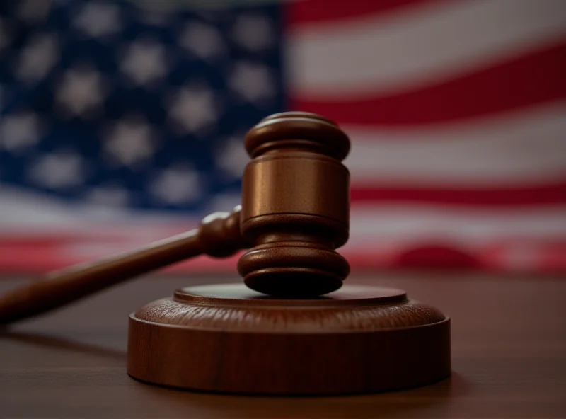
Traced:
<svg viewBox="0 0 566 419">
<path fill-rule="evenodd" d="M 156 241 L 94 263 L 50 272 L 0 297 L 0 324 L 37 316 L 138 275 L 207 254 L 231 256 L 246 248 L 240 234 L 240 207 L 205 217 L 198 229 Z"/>
</svg>

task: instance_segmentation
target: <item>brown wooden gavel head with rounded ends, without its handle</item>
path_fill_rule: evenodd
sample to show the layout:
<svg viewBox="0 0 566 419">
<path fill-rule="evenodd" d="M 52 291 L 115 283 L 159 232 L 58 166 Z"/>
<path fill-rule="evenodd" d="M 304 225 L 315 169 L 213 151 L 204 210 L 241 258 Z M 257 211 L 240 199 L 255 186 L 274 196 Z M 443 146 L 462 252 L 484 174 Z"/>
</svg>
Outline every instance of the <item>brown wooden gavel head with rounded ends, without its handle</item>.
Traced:
<svg viewBox="0 0 566 419">
<path fill-rule="evenodd" d="M 335 249 L 348 239 L 347 135 L 312 113 L 279 113 L 246 135 L 241 234 L 253 247 L 238 260 L 246 285 L 274 297 L 335 291 L 350 265 Z"/>
</svg>

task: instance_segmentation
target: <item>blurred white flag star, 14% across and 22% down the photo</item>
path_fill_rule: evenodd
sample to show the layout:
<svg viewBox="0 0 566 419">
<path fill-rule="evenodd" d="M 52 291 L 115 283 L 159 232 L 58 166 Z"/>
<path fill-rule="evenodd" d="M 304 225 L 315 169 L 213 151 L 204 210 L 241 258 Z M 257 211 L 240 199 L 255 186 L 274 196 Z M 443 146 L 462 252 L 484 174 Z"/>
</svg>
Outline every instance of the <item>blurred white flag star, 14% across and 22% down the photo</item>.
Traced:
<svg viewBox="0 0 566 419">
<path fill-rule="evenodd" d="M 87 68 L 68 70 L 57 91 L 57 101 L 72 115 L 98 110 L 103 96 L 100 74 Z"/>
</svg>

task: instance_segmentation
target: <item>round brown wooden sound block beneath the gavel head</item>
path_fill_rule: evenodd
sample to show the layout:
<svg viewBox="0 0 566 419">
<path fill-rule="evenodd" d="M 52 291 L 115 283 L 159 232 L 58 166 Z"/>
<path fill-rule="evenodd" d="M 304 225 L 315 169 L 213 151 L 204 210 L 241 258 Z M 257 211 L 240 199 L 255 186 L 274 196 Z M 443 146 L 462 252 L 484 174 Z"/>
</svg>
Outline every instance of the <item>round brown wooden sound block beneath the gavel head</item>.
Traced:
<svg viewBox="0 0 566 419">
<path fill-rule="evenodd" d="M 449 318 L 398 289 L 277 299 L 206 285 L 129 316 L 128 374 L 183 389 L 354 394 L 430 384 L 450 368 Z"/>
</svg>

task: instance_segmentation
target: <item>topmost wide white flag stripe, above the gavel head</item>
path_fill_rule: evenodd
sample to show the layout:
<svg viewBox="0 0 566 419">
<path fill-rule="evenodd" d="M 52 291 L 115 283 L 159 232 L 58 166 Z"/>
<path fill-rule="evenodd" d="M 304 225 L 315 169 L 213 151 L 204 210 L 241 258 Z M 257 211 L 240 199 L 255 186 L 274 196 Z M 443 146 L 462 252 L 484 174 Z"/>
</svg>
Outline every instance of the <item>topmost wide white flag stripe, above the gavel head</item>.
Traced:
<svg viewBox="0 0 566 419">
<path fill-rule="evenodd" d="M 566 35 L 564 0 L 452 1 L 291 31 L 291 92 L 391 93 L 446 79 Z"/>
</svg>

